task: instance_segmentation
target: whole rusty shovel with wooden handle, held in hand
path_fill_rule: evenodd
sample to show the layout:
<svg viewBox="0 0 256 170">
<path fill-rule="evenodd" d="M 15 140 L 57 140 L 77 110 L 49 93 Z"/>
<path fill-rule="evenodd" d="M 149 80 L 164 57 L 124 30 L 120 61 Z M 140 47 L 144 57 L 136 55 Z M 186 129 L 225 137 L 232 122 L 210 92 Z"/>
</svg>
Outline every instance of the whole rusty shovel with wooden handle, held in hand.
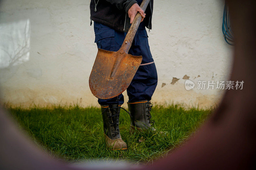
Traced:
<svg viewBox="0 0 256 170">
<path fill-rule="evenodd" d="M 148 3 L 149 0 L 143 0 L 140 8 L 145 11 Z M 130 85 L 142 61 L 142 56 L 128 54 L 141 18 L 142 16 L 138 12 L 118 51 L 107 51 L 98 48 L 89 78 L 89 86 L 95 97 L 99 99 L 116 97 Z"/>
</svg>

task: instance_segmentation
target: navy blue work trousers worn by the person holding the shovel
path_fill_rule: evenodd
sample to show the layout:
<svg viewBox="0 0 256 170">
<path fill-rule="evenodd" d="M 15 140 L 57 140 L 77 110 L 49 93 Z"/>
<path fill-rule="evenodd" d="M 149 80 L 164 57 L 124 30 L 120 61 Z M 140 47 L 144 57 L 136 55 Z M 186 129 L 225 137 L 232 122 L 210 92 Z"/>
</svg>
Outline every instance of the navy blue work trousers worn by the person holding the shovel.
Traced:
<svg viewBox="0 0 256 170">
<path fill-rule="evenodd" d="M 94 32 L 98 48 L 108 51 L 118 51 L 127 34 L 98 22 L 94 22 Z M 128 53 L 137 56 L 142 55 L 141 65 L 127 88 L 129 102 L 151 100 L 157 85 L 157 73 L 148 45 L 148 34 L 143 22 L 140 23 Z M 98 102 L 100 105 L 122 105 L 124 103 L 124 96 L 120 94 L 111 99 L 98 99 Z"/>
</svg>

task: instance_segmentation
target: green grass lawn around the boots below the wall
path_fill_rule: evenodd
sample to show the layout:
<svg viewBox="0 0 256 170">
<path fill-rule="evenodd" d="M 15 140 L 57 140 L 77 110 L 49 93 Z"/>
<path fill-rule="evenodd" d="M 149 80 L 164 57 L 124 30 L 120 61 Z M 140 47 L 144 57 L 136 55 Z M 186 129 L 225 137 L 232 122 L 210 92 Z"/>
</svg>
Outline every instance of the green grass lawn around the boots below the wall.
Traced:
<svg viewBox="0 0 256 170">
<path fill-rule="evenodd" d="M 196 127 L 211 113 L 209 110 L 185 110 L 177 105 L 152 108 L 155 127 L 167 131 L 167 136 L 156 132 L 129 134 L 129 115 L 121 111 L 120 133 L 128 145 L 127 151 L 106 149 L 100 108 L 8 108 L 18 125 L 44 150 L 58 159 L 69 162 L 118 159 L 147 164 L 164 157 L 182 144 Z M 143 137 L 145 142 L 139 142 Z"/>
</svg>

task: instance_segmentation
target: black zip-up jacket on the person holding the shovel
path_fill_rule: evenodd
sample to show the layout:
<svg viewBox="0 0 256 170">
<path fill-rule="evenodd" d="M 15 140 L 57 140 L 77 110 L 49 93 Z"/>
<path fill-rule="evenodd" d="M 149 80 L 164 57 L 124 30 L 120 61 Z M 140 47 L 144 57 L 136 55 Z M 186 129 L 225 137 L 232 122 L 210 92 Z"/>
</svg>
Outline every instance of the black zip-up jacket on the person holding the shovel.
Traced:
<svg viewBox="0 0 256 170">
<path fill-rule="evenodd" d="M 127 12 L 135 3 L 136 0 L 91 0 L 91 21 L 99 22 L 117 31 L 128 32 L 130 18 Z M 152 29 L 153 0 L 149 1 L 145 13 L 147 15 L 143 22 L 148 29 Z"/>
</svg>

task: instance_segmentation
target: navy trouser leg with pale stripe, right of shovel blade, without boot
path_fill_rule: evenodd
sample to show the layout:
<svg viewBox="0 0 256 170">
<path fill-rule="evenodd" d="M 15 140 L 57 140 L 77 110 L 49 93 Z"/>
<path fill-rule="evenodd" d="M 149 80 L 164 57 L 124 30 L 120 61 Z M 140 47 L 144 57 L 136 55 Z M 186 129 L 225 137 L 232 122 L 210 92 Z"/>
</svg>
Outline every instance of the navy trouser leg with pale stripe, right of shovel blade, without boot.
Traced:
<svg viewBox="0 0 256 170">
<path fill-rule="evenodd" d="M 148 35 L 143 23 L 140 24 L 135 34 L 132 47 L 129 50 L 131 55 L 142 55 L 142 62 L 127 88 L 129 102 L 151 100 L 157 85 L 156 65 L 152 58 Z"/>
</svg>

